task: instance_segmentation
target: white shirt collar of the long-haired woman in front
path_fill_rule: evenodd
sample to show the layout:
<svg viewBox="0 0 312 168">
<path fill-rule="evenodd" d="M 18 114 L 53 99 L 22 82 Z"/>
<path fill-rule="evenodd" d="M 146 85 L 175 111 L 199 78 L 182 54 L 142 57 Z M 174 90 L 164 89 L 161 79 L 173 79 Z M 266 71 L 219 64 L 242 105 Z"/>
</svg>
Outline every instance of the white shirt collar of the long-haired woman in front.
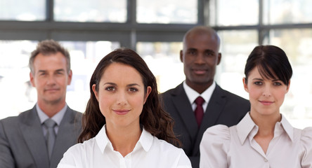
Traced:
<svg viewBox="0 0 312 168">
<path fill-rule="evenodd" d="M 150 132 L 147 132 L 143 127 L 141 137 L 140 139 L 138 139 L 138 142 L 134 147 L 134 151 L 142 147 L 144 151 L 148 152 L 150 150 L 150 147 L 152 146 L 152 139 L 153 139 L 152 134 L 150 134 Z M 108 139 L 108 135 L 106 134 L 105 125 L 100 129 L 100 132 L 98 132 L 98 134 L 96 135 L 96 143 L 98 144 L 101 153 L 104 153 L 105 148 L 107 147 L 110 148 L 111 151 L 114 151 L 112 143 L 110 142 L 110 139 Z"/>
</svg>

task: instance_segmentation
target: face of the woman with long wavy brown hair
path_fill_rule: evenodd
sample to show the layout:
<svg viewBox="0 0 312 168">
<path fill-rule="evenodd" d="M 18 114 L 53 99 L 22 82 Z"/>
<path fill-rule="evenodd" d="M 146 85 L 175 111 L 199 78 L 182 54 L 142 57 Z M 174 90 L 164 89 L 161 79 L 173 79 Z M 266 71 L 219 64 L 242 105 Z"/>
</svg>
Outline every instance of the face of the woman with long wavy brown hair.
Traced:
<svg viewBox="0 0 312 168">
<path fill-rule="evenodd" d="M 104 71 L 98 84 L 92 86 L 100 111 L 110 127 L 139 126 L 140 114 L 151 87 L 145 92 L 140 73 L 134 67 L 112 63 Z"/>
</svg>

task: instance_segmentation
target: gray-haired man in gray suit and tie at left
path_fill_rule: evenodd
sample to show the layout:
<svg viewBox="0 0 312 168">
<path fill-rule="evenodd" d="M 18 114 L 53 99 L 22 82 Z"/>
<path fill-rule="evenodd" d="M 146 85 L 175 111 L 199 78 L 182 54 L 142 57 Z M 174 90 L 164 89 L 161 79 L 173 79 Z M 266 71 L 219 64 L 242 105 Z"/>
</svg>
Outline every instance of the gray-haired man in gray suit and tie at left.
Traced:
<svg viewBox="0 0 312 168">
<path fill-rule="evenodd" d="M 0 120 L 1 168 L 54 168 L 77 144 L 82 113 L 65 102 L 71 80 L 69 52 L 53 40 L 38 43 L 30 56 L 30 83 L 37 90 L 37 104 Z"/>
</svg>

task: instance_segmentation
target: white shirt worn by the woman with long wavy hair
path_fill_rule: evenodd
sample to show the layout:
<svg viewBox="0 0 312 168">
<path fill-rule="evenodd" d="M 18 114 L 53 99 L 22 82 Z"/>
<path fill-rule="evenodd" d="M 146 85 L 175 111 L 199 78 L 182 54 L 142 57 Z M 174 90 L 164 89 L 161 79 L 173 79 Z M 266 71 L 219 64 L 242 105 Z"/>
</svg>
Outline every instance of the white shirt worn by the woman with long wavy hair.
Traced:
<svg viewBox="0 0 312 168">
<path fill-rule="evenodd" d="M 181 148 L 153 137 L 145 131 L 134 147 L 134 151 L 123 157 L 118 151 L 114 151 L 112 143 L 105 132 L 105 125 L 96 137 L 76 144 L 64 153 L 58 168 L 96 168 L 96 167 L 180 167 L 190 168 L 190 160 Z"/>
</svg>

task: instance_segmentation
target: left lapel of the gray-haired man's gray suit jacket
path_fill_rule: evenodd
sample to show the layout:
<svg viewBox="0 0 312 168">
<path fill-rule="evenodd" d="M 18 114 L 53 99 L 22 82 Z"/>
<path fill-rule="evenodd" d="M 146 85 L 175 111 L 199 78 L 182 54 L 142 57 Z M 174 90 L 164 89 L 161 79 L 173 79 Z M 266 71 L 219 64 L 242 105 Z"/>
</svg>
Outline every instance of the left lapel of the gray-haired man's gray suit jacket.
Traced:
<svg viewBox="0 0 312 168">
<path fill-rule="evenodd" d="M 34 107 L 20 122 L 20 130 L 37 167 L 48 167 L 48 151 L 41 123 Z"/>
</svg>

